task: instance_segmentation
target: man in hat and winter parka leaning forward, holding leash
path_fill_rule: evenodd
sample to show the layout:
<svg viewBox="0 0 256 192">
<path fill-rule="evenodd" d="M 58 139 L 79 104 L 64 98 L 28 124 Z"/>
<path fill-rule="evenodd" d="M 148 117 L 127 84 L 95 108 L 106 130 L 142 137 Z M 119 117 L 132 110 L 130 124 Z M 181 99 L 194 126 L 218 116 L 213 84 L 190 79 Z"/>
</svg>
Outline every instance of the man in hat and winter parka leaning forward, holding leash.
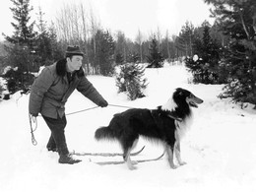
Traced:
<svg viewBox="0 0 256 192">
<path fill-rule="evenodd" d="M 107 101 L 98 94 L 94 86 L 85 77 L 82 68 L 84 53 L 79 46 L 68 46 L 66 58 L 45 67 L 32 84 L 29 110 L 36 117 L 41 113 L 48 125 L 51 136 L 48 151 L 58 152 L 59 163 L 77 163 L 69 154 L 65 127 L 65 103 L 68 97 L 77 89 L 98 106 L 105 107 Z"/>
</svg>

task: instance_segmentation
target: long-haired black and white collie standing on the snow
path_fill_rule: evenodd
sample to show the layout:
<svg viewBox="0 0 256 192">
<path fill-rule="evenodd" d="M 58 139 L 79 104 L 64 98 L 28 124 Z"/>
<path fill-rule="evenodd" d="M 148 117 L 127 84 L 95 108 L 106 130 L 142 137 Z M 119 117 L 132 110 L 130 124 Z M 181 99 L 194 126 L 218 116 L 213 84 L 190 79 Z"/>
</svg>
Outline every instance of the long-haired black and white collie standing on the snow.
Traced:
<svg viewBox="0 0 256 192">
<path fill-rule="evenodd" d="M 131 108 L 117 113 L 107 127 L 96 130 L 96 140 L 117 140 L 123 150 L 123 159 L 129 169 L 135 169 L 137 162 L 130 159 L 130 153 L 136 147 L 139 136 L 157 140 L 163 144 L 164 152 L 171 168 L 173 153 L 179 165 L 186 162 L 180 158 L 180 140 L 189 129 L 193 114 L 191 107 L 198 107 L 203 99 L 191 92 L 177 88 L 163 105 L 156 109 Z"/>
</svg>

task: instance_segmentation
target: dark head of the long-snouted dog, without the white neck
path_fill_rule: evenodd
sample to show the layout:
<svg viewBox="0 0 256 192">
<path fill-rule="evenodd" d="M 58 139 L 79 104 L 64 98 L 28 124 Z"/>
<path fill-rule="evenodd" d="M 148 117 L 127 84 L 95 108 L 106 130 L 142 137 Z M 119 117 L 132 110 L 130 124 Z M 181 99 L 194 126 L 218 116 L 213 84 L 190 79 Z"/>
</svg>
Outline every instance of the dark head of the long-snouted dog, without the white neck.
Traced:
<svg viewBox="0 0 256 192">
<path fill-rule="evenodd" d="M 172 98 L 177 105 L 181 105 L 186 102 L 189 106 L 192 107 L 198 107 L 197 104 L 201 104 L 204 101 L 203 99 L 182 88 L 177 88 L 173 93 Z"/>
</svg>

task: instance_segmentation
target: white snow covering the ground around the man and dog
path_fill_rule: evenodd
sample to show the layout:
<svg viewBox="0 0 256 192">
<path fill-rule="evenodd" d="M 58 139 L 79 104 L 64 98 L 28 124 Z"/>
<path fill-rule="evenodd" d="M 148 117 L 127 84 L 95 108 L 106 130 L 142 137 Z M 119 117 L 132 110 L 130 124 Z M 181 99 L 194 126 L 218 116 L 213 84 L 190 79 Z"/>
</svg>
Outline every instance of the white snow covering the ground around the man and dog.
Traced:
<svg viewBox="0 0 256 192">
<path fill-rule="evenodd" d="M 147 69 L 146 97 L 130 101 L 117 94 L 114 78 L 89 76 L 98 92 L 110 104 L 155 108 L 164 104 L 173 89 L 181 87 L 204 99 L 194 109 L 194 122 L 181 141 L 181 156 L 187 162 L 170 169 L 162 160 L 139 163 L 136 170 L 126 164 L 96 165 L 92 161 L 122 160 L 121 157 L 76 157 L 78 164 L 59 164 L 56 153 L 47 152 L 50 131 L 37 117 L 32 146 L 28 118 L 29 96 L 12 96 L 0 101 L 0 191 L 256 191 L 256 111 L 252 105 L 241 109 L 229 98 L 220 99 L 222 85 L 193 85 L 184 66 L 165 65 Z M 78 92 L 68 100 L 66 112 L 94 107 Z M 96 128 L 107 125 L 116 112 L 126 108 L 108 106 L 68 115 L 67 144 L 76 152 L 120 153 L 116 142 L 96 142 Z M 136 150 L 145 150 L 132 160 L 157 158 L 162 147 L 141 139 Z M 92 161 L 91 161 L 92 160 Z"/>
</svg>

